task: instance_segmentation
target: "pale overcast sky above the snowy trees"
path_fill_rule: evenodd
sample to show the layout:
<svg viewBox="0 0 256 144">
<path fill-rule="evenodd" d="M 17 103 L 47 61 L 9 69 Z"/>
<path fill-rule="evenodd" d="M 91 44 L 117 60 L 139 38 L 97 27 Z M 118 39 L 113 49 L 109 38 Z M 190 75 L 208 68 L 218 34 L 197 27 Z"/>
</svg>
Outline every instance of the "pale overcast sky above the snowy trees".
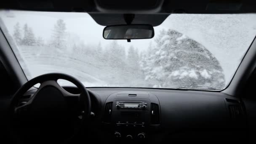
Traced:
<svg viewBox="0 0 256 144">
<path fill-rule="evenodd" d="M 32 27 L 35 36 L 50 40 L 58 19 L 66 23 L 67 32 L 77 35 L 85 44 L 102 47 L 111 43 L 102 37 L 104 26 L 97 24 L 87 13 L 0 11 L 8 31 L 13 35 L 13 26 L 19 22 Z M 161 29 L 174 29 L 205 46 L 220 61 L 226 82 L 229 83 L 248 47 L 256 35 L 256 14 L 171 14 L 160 26 L 154 27 L 155 37 Z M 153 39 L 118 40 L 127 50 L 131 45 L 143 51 Z"/>
</svg>

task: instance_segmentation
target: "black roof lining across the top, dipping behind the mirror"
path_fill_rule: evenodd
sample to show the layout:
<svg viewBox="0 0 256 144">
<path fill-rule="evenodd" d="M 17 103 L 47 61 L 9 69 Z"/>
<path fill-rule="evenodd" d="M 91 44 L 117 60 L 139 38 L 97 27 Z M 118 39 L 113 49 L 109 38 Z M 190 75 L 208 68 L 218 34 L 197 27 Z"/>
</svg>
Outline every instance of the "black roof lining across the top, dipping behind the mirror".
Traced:
<svg viewBox="0 0 256 144">
<path fill-rule="evenodd" d="M 100 25 L 125 24 L 124 13 L 135 14 L 133 24 L 157 26 L 171 13 L 256 13 L 255 0 L 6 0 L 0 9 L 86 12 Z"/>
</svg>

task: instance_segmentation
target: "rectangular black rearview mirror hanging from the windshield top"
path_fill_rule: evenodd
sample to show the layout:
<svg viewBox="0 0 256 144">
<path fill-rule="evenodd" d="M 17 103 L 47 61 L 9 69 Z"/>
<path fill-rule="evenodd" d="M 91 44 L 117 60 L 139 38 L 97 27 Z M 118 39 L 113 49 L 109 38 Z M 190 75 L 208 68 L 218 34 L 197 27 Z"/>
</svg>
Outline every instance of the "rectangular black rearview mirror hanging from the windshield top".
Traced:
<svg viewBox="0 0 256 144">
<path fill-rule="evenodd" d="M 107 26 L 103 30 L 104 39 L 109 40 L 149 39 L 154 35 L 154 28 L 148 24 Z"/>
</svg>

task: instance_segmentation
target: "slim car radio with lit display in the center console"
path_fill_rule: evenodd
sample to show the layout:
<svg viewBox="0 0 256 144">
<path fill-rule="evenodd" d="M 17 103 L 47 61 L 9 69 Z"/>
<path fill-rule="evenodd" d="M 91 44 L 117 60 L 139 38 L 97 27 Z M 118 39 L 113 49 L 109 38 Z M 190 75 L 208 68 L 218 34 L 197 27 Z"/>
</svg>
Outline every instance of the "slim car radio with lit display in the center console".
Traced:
<svg viewBox="0 0 256 144">
<path fill-rule="evenodd" d="M 115 107 L 117 109 L 146 109 L 145 101 L 117 101 Z"/>
</svg>

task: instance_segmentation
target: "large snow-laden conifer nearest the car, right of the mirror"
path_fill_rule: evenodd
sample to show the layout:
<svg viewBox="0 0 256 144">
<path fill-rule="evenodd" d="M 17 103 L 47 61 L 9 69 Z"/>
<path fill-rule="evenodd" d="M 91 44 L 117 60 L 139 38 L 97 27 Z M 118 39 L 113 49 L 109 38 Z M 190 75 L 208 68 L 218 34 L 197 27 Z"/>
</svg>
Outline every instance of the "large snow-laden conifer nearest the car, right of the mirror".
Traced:
<svg viewBox="0 0 256 144">
<path fill-rule="evenodd" d="M 171 29 L 162 30 L 155 41 L 140 62 L 145 79 L 155 83 L 151 86 L 224 88 L 219 61 L 203 45 Z"/>
</svg>

